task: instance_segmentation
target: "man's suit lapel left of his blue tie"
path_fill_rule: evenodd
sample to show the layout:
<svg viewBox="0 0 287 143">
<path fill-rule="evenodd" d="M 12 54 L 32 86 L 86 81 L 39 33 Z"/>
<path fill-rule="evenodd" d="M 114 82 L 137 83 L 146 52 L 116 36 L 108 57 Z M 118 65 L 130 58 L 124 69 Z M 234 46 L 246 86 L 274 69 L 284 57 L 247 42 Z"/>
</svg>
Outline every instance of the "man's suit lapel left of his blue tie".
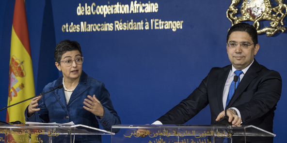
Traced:
<svg viewBox="0 0 287 143">
<path fill-rule="evenodd" d="M 222 102 L 223 90 L 224 90 L 224 86 L 225 86 L 228 74 L 230 72 L 230 69 L 231 69 L 231 65 L 224 67 L 223 68 L 224 71 L 219 73 L 218 79 L 217 79 L 217 97 L 218 97 L 217 100 L 218 100 L 221 111 L 224 110 L 223 102 Z"/>
</svg>

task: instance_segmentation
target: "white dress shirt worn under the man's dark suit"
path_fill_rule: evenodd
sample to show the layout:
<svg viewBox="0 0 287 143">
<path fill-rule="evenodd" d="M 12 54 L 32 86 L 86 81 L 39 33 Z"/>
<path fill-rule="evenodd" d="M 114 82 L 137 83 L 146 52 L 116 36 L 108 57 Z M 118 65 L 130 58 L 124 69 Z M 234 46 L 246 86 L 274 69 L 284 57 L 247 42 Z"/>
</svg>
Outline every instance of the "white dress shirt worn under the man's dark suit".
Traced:
<svg viewBox="0 0 287 143">
<path fill-rule="evenodd" d="M 240 81 L 239 83 L 241 82 L 243 76 L 245 75 L 245 73 L 247 72 L 247 70 L 249 69 L 249 67 L 253 64 L 254 60 L 252 61 L 252 63 L 246 67 L 245 69 L 241 70 L 243 73 L 240 74 L 239 78 L 240 78 Z M 223 102 L 223 109 L 225 110 L 225 106 L 226 106 L 226 100 L 227 100 L 227 96 L 228 96 L 228 92 L 229 92 L 229 87 L 233 81 L 233 78 L 234 78 L 234 75 L 235 75 L 235 72 L 236 69 L 233 67 L 232 65 L 232 69 L 230 70 L 229 74 L 228 74 L 228 77 L 227 77 L 227 80 L 225 82 L 225 86 L 224 86 L 224 89 L 223 89 L 223 98 L 222 98 L 222 102 Z M 241 114 L 239 112 L 239 110 L 237 108 L 234 108 L 234 107 L 231 107 L 232 109 L 236 110 L 238 116 L 241 118 Z M 242 121 L 241 121 L 242 123 Z M 162 125 L 162 123 L 160 121 L 155 121 L 154 123 L 152 123 L 153 125 Z"/>
</svg>

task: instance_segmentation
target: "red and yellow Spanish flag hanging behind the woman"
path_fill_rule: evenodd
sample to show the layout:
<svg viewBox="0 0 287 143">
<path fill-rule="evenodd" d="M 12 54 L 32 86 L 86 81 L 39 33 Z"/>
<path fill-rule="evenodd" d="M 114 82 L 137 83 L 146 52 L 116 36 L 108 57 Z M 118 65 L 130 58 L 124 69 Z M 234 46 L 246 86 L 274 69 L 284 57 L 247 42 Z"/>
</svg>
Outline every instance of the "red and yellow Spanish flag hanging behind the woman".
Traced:
<svg viewBox="0 0 287 143">
<path fill-rule="evenodd" d="M 8 106 L 35 96 L 32 58 L 24 0 L 16 0 L 10 51 Z M 6 122 L 25 123 L 30 101 L 7 108 Z"/>
</svg>

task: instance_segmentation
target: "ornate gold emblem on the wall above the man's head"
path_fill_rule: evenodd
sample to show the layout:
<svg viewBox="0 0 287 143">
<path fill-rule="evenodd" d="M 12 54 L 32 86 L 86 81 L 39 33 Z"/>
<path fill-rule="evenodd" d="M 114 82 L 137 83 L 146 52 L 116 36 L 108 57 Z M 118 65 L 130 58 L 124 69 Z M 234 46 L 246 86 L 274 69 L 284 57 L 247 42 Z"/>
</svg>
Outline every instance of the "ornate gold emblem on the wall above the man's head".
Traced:
<svg viewBox="0 0 287 143">
<path fill-rule="evenodd" d="M 226 12 L 227 18 L 231 21 L 232 26 L 242 21 L 254 21 L 253 26 L 257 29 L 258 34 L 266 33 L 272 36 L 276 32 L 284 32 L 286 28 L 283 26 L 283 19 L 286 16 L 287 5 L 284 0 L 275 0 L 277 6 L 272 7 L 270 0 L 243 0 L 241 5 L 241 16 L 238 13 L 236 5 L 240 0 L 231 0 L 231 4 Z M 260 29 L 260 20 L 271 20 L 270 27 Z"/>
</svg>

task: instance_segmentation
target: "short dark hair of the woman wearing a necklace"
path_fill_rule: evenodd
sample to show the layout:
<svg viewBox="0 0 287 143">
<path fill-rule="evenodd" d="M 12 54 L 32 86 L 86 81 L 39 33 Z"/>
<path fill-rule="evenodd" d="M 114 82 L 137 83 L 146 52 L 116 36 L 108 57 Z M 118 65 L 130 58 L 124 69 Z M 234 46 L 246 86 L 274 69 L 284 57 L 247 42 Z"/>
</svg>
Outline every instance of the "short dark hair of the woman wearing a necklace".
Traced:
<svg viewBox="0 0 287 143">
<path fill-rule="evenodd" d="M 80 43 L 78 43 L 77 41 L 63 40 L 59 42 L 55 48 L 54 53 L 55 61 L 61 65 L 60 60 L 62 58 L 62 55 L 65 54 L 67 51 L 74 51 L 74 50 L 78 50 L 80 52 L 80 56 L 83 57 Z"/>
</svg>

